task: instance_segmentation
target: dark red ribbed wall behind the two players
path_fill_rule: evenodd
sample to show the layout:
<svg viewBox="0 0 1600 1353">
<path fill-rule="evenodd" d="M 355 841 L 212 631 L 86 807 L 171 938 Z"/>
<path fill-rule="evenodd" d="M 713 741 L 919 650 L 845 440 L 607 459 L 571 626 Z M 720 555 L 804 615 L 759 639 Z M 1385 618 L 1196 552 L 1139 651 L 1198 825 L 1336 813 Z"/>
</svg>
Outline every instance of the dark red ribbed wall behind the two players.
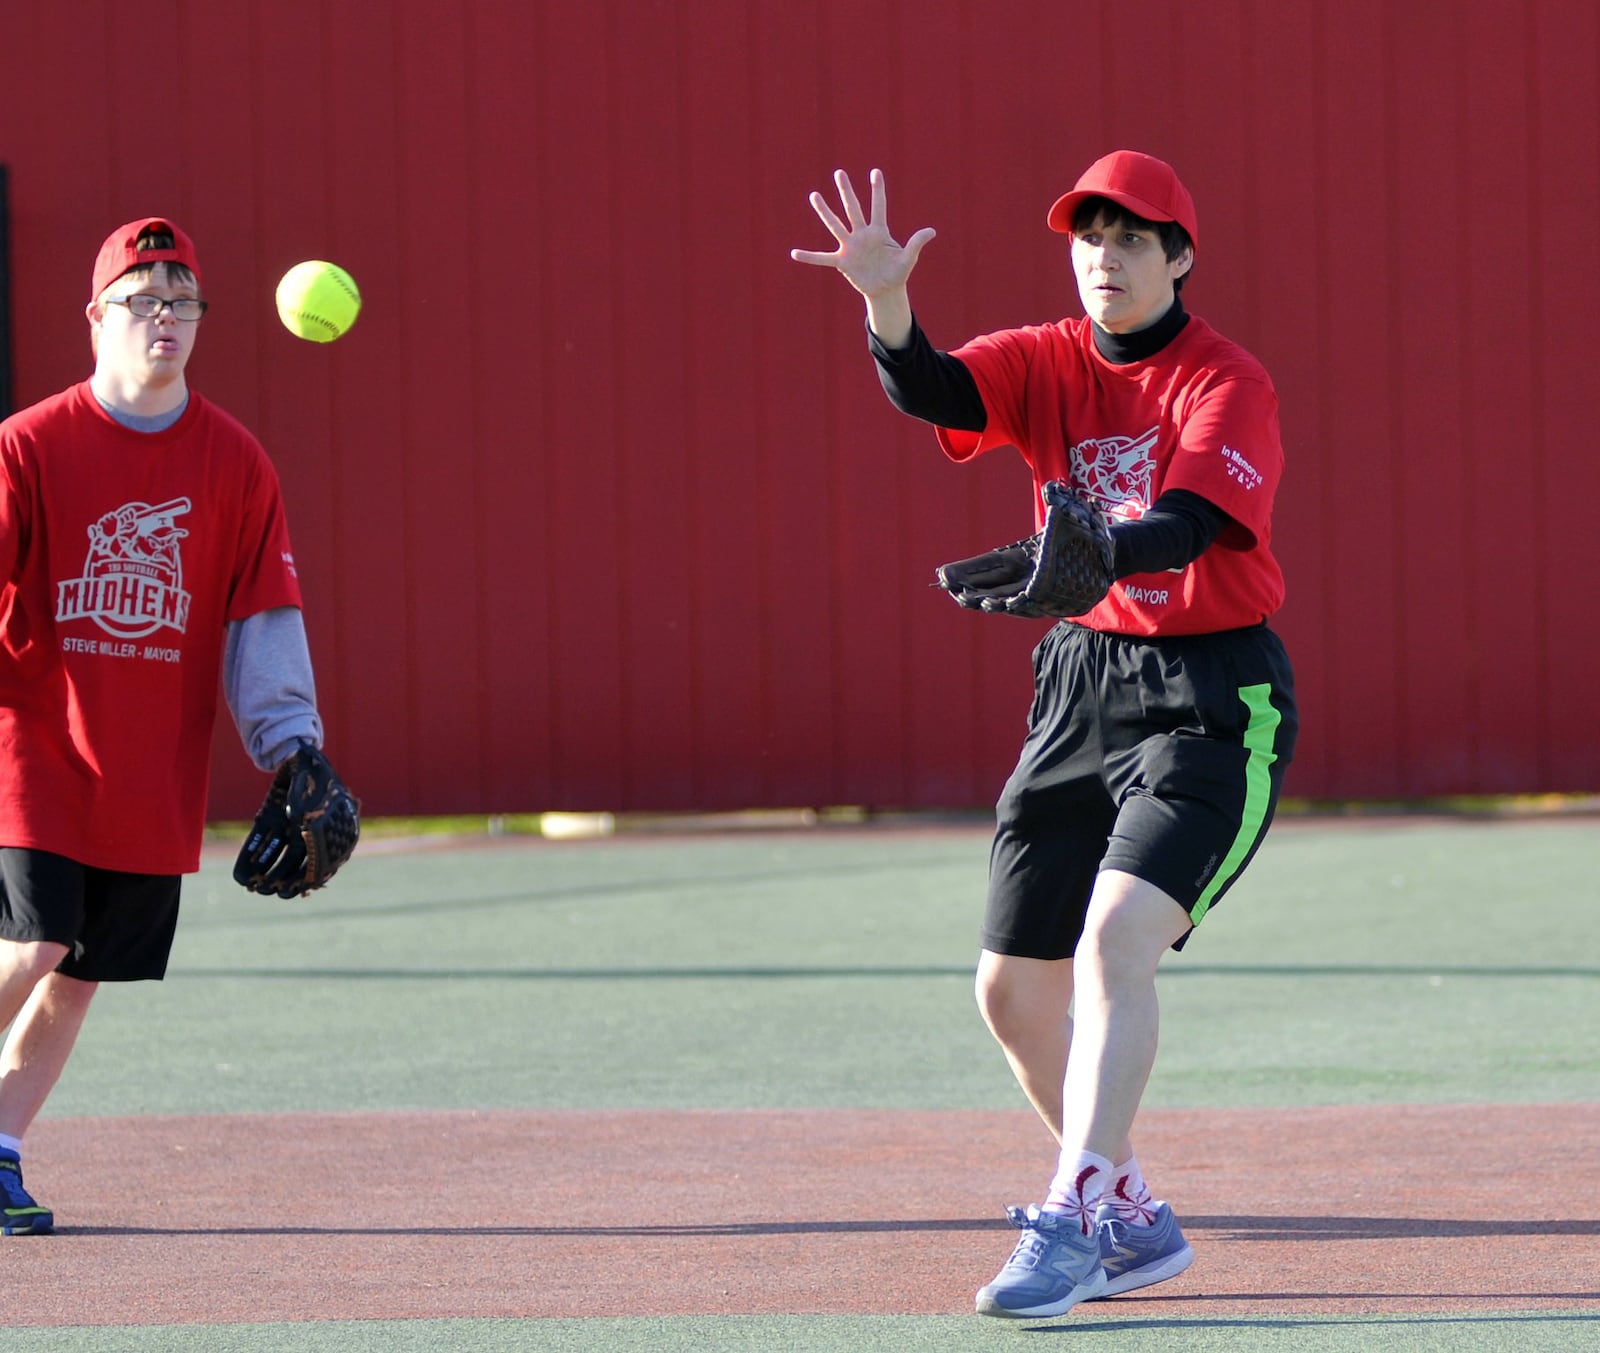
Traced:
<svg viewBox="0 0 1600 1353">
<path fill-rule="evenodd" d="M 0 0 L 18 397 L 178 216 L 374 812 L 987 803 L 1035 630 L 925 584 L 1026 477 L 946 464 L 787 249 L 880 165 L 936 342 L 1053 318 L 1043 213 L 1136 146 L 1283 401 L 1291 792 L 1594 790 L 1597 70 L 1592 0 Z M 302 257 L 366 294 L 333 347 L 272 315 Z M 259 787 L 224 729 L 216 811 Z"/>
</svg>

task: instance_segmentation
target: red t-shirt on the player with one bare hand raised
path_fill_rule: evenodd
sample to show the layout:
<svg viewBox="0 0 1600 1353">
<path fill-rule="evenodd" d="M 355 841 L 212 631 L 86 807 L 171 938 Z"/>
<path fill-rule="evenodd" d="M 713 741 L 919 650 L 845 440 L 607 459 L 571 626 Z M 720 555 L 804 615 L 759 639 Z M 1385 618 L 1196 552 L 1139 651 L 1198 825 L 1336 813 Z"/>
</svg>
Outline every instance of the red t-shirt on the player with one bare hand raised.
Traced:
<svg viewBox="0 0 1600 1353">
<path fill-rule="evenodd" d="M 1078 624 L 1126 635 L 1192 635 L 1254 625 L 1283 603 L 1272 558 L 1272 499 L 1283 473 L 1278 398 L 1266 369 L 1194 315 L 1165 349 L 1115 365 L 1090 321 L 1061 320 L 973 339 L 966 363 L 989 411 L 984 432 L 938 429 L 954 461 L 1016 446 L 1038 489 L 1066 480 L 1110 520 L 1142 517 L 1187 489 L 1229 526 L 1178 573 L 1120 579 Z"/>
</svg>

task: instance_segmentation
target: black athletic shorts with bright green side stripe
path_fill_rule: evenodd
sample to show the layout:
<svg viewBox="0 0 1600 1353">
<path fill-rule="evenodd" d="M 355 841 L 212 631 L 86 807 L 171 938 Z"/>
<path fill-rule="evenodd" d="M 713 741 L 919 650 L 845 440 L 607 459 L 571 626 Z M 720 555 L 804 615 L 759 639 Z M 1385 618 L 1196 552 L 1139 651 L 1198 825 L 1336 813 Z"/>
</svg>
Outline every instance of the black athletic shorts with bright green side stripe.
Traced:
<svg viewBox="0 0 1600 1353">
<path fill-rule="evenodd" d="M 1266 625 L 1056 625 L 1034 649 L 1027 739 L 995 806 L 984 948 L 1075 953 L 1102 868 L 1154 883 L 1198 924 L 1261 844 L 1298 729 L 1294 673 Z"/>
</svg>

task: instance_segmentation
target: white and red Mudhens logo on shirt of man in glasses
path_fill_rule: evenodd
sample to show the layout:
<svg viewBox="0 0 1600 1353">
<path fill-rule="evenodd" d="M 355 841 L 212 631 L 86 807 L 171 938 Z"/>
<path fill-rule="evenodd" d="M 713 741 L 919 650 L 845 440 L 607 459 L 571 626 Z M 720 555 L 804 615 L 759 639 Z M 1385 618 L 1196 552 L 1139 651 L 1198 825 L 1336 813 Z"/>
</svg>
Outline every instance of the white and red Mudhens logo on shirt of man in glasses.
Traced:
<svg viewBox="0 0 1600 1353">
<path fill-rule="evenodd" d="M 165 627 L 182 633 L 190 597 L 178 544 L 187 537 L 176 518 L 187 497 L 150 505 L 126 502 L 88 528 L 83 576 L 56 584 L 56 621 L 93 621 L 117 638 L 141 638 Z"/>
</svg>

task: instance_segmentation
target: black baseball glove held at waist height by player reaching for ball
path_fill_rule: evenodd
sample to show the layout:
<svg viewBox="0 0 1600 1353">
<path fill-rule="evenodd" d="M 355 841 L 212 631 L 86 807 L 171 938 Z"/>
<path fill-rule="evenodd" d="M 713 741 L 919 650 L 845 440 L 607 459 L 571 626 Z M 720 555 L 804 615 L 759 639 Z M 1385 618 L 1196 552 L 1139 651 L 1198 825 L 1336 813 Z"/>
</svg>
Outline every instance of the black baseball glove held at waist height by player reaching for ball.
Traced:
<svg viewBox="0 0 1600 1353">
<path fill-rule="evenodd" d="M 1006 616 L 1082 616 L 1115 582 L 1106 518 L 1061 480 L 1040 489 L 1045 526 L 1037 536 L 934 571 L 957 605 Z"/>
</svg>

